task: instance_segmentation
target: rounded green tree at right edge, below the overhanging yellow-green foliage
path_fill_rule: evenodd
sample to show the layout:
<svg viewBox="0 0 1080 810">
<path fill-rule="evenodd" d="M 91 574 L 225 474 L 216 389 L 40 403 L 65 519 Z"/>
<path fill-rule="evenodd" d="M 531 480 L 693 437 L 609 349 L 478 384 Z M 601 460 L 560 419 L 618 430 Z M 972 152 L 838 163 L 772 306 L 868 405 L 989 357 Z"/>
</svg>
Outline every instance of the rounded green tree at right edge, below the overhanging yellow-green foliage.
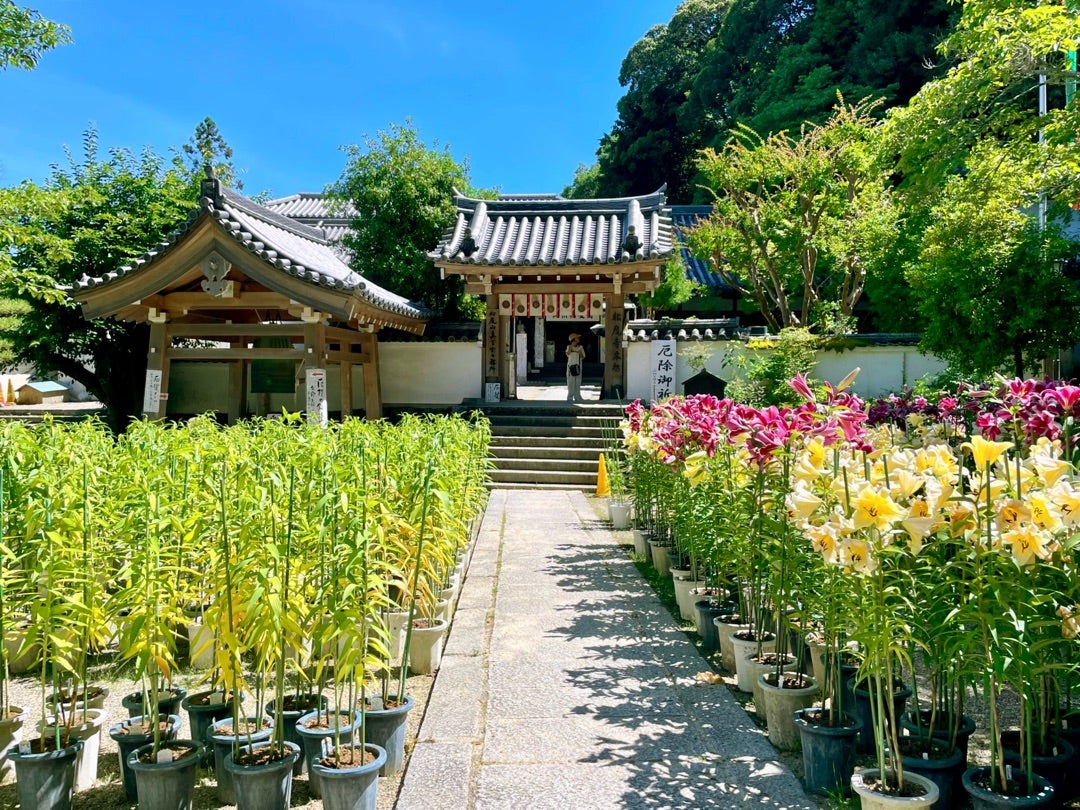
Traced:
<svg viewBox="0 0 1080 810">
<path fill-rule="evenodd" d="M 1062 271 L 1075 254 L 1030 211 L 1037 178 L 1008 146 L 983 144 L 948 179 L 908 271 L 924 321 L 922 347 L 963 374 L 1017 377 L 1080 340 L 1080 294 Z"/>
</svg>

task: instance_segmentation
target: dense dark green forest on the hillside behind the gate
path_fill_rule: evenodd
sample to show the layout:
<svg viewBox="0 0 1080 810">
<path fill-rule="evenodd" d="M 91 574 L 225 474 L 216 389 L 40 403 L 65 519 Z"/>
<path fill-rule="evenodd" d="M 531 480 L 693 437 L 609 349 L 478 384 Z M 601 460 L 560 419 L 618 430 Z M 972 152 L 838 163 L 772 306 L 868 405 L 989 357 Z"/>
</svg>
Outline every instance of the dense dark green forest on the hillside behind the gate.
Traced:
<svg viewBox="0 0 1080 810">
<path fill-rule="evenodd" d="M 696 159 L 743 124 L 798 133 L 837 103 L 906 104 L 944 72 L 947 0 L 686 0 L 626 54 L 626 89 L 572 197 L 621 197 L 667 184 L 673 203 L 710 202 Z"/>
</svg>

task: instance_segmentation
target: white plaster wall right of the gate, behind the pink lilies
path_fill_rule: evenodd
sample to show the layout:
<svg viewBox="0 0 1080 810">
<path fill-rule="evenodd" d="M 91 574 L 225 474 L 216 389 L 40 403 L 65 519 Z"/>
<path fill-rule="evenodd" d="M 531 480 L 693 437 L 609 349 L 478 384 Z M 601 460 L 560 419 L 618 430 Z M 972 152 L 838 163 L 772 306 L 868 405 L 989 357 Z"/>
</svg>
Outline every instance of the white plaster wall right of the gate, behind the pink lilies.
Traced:
<svg viewBox="0 0 1080 810">
<path fill-rule="evenodd" d="M 744 343 L 734 341 L 679 342 L 675 363 L 675 390 L 678 392 L 683 391 L 683 382 L 696 374 L 687 359 L 679 354 L 679 351 L 688 345 L 713 347 L 713 353 L 705 368 L 724 380 L 738 376 L 738 366 L 733 360 L 747 351 Z M 648 341 L 633 341 L 626 347 L 627 399 L 648 400 L 651 396 L 652 355 L 649 347 Z M 852 388 L 860 396 L 870 397 L 899 391 L 903 386 L 909 386 L 920 377 L 939 374 L 945 366 L 944 361 L 922 354 L 914 346 L 867 346 L 843 352 L 818 352 L 818 363 L 812 376 L 820 380 L 839 382 L 851 369 L 859 367 L 859 377 Z"/>
</svg>

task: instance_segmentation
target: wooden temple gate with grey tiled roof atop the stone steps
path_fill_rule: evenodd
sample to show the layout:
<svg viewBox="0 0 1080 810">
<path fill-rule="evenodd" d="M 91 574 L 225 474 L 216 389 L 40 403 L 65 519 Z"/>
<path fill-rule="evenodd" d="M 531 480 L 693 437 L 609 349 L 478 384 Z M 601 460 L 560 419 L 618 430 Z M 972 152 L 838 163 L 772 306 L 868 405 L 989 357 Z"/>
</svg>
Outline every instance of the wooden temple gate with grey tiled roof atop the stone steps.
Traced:
<svg viewBox="0 0 1080 810">
<path fill-rule="evenodd" d="M 484 381 L 510 390 L 512 319 L 566 312 L 604 319 L 602 396 L 626 390 L 625 296 L 656 289 L 673 249 L 661 188 L 645 197 L 558 194 L 480 200 L 455 192 L 457 219 L 429 257 L 487 298 Z"/>
</svg>

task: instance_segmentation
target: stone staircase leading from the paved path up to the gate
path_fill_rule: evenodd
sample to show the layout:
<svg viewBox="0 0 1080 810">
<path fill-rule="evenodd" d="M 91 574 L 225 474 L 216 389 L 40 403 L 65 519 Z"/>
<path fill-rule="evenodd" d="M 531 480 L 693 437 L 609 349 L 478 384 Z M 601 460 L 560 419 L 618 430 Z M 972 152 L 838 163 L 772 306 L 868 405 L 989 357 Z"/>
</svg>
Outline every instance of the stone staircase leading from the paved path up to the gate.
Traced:
<svg viewBox="0 0 1080 810">
<path fill-rule="evenodd" d="M 595 489 L 600 453 L 622 437 L 619 404 L 491 403 L 478 409 L 491 422 L 492 488 Z"/>
</svg>

